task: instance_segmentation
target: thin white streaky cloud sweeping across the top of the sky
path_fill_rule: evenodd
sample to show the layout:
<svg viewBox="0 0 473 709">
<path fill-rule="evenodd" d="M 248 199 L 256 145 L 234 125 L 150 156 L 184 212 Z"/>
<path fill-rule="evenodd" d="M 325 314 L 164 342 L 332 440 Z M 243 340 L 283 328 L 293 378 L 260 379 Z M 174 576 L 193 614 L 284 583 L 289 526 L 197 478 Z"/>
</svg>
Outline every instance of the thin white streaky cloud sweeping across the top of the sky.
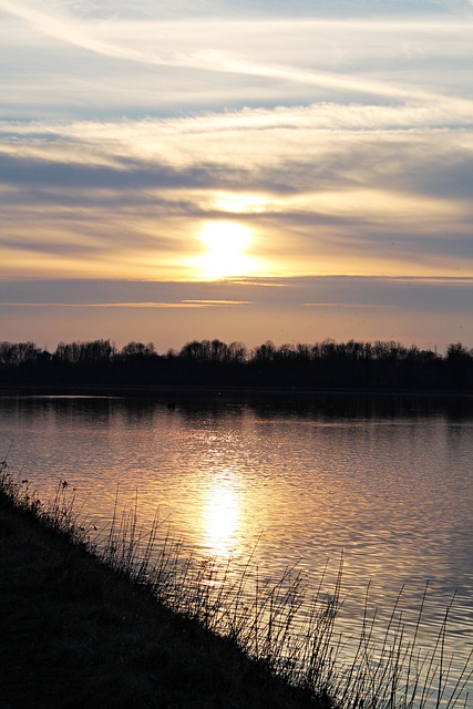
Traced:
<svg viewBox="0 0 473 709">
<path fill-rule="evenodd" d="M 113 60 L 122 60 L 152 66 L 173 68 L 185 71 L 203 71 L 224 74 L 243 75 L 270 80 L 286 90 L 291 84 L 312 86 L 335 94 L 350 95 L 357 100 L 360 96 L 376 96 L 379 101 L 411 102 L 415 105 L 439 104 L 451 112 L 471 115 L 472 101 L 460 92 L 449 95 L 442 90 L 426 90 L 424 81 L 405 82 L 399 75 L 399 61 L 405 58 L 405 37 L 412 37 L 422 42 L 429 42 L 429 31 L 436 34 L 455 33 L 455 44 L 462 43 L 466 31 L 464 24 L 442 18 L 425 22 L 397 22 L 380 20 L 354 21 L 353 19 L 337 21 L 291 20 L 280 18 L 268 20 L 265 18 L 238 20 L 233 18 L 206 18 L 204 21 L 179 17 L 178 22 L 163 21 L 156 17 L 150 23 L 107 21 L 84 17 L 80 12 L 68 11 L 63 4 L 49 2 L 22 3 L 11 0 L 0 0 L 0 9 L 16 17 L 27 20 L 38 32 L 51 35 L 61 43 L 66 42 L 89 52 Z M 383 56 L 385 47 L 397 48 L 394 66 L 397 72 L 376 73 L 372 70 L 372 55 L 368 47 L 370 41 L 360 42 L 360 33 L 376 41 L 378 59 Z M 328 34 L 328 39 L 327 35 Z M 387 38 L 380 42 L 379 35 Z M 363 47 L 363 60 L 360 58 L 353 64 L 353 35 L 357 47 Z M 398 35 L 403 38 L 399 41 Z M 210 37 L 204 44 L 203 37 Z M 241 51 L 241 37 L 245 37 Z M 426 39 L 425 39 L 426 38 Z M 280 61 L 279 47 L 285 45 L 285 62 Z M 399 45 L 402 44 L 402 50 Z M 445 42 L 441 43 L 444 47 Z M 156 51 L 160 47 L 160 51 Z M 322 48 L 320 50 L 319 48 Z M 431 47 L 429 44 L 429 47 Z M 302 51 L 304 48 L 304 51 Z M 349 49 L 346 61 L 341 61 Z M 359 52 L 359 49 L 356 50 Z M 422 53 L 421 49 L 421 53 Z M 439 51 L 439 50 L 436 50 Z M 459 49 L 456 50 L 459 51 Z M 351 54 L 351 62 L 348 61 Z M 330 58 L 329 61 L 327 58 Z M 383 56 L 384 59 L 384 56 Z M 369 60 L 369 62 L 367 61 Z M 384 59 L 385 63 L 385 59 Z M 369 65 L 371 64 L 371 65 Z M 333 71 L 330 68 L 339 68 Z M 356 69 L 356 71 L 353 71 Z M 366 70 L 366 71 L 364 71 Z M 328 94 L 330 95 L 330 94 Z"/>
</svg>

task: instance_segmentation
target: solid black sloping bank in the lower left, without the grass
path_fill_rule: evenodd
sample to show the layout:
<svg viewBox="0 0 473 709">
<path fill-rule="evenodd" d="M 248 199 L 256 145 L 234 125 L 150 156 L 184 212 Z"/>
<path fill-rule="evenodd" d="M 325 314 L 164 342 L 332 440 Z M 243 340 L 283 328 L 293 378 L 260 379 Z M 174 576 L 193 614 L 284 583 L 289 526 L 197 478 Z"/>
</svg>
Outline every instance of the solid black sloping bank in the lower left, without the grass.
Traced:
<svg viewBox="0 0 473 709">
<path fill-rule="evenodd" d="M 0 497 L 1 709 L 317 707 Z"/>
</svg>

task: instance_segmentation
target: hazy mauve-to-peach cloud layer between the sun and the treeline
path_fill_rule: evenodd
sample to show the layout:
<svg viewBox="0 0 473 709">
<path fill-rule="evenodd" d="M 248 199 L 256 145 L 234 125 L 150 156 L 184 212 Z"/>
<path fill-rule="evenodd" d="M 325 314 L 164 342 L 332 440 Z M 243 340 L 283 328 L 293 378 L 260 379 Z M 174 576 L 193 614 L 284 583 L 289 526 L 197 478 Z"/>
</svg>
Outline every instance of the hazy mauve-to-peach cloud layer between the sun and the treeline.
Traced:
<svg viewBox="0 0 473 709">
<path fill-rule="evenodd" d="M 3 339 L 32 339 L 49 348 L 59 340 L 110 338 L 121 345 L 154 340 L 165 351 L 215 337 L 248 346 L 266 339 L 281 343 L 352 338 L 443 348 L 472 340 L 472 296 L 473 278 L 11 278 L 0 281 L 0 321 Z M 207 305 L 216 300 L 218 305 Z M 204 307 L 188 307 L 188 301 Z M 233 305 L 240 301 L 249 302 Z M 305 306 L 310 302 L 319 307 Z"/>
</svg>

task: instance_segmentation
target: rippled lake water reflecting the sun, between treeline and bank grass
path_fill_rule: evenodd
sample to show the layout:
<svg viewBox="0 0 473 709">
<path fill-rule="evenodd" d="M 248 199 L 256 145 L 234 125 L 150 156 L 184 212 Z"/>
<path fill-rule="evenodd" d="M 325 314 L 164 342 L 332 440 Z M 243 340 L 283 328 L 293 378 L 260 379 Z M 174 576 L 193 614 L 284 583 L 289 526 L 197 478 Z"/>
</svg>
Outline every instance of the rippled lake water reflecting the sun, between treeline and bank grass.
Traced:
<svg viewBox="0 0 473 709">
<path fill-rule="evenodd" d="M 433 641 L 456 594 L 453 677 L 473 647 L 470 399 L 2 397 L 7 454 L 42 499 L 68 481 L 99 528 L 116 499 L 136 499 L 144 527 L 158 511 L 199 557 L 232 555 L 238 568 L 251 555 L 265 579 L 297 563 L 317 588 L 327 566 L 330 587 L 343 557 L 347 636 L 368 585 L 381 626 L 402 588 L 413 633 L 429 582 L 421 640 Z"/>
</svg>

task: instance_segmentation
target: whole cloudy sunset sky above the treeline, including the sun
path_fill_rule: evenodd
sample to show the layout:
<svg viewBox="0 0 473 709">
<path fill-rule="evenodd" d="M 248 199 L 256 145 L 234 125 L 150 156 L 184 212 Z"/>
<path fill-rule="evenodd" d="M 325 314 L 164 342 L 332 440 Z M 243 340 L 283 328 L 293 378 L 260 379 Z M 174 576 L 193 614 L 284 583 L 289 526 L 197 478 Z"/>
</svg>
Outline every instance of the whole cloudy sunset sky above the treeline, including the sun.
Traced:
<svg viewBox="0 0 473 709">
<path fill-rule="evenodd" d="M 473 347 L 473 1 L 0 0 L 0 340 Z"/>
</svg>

